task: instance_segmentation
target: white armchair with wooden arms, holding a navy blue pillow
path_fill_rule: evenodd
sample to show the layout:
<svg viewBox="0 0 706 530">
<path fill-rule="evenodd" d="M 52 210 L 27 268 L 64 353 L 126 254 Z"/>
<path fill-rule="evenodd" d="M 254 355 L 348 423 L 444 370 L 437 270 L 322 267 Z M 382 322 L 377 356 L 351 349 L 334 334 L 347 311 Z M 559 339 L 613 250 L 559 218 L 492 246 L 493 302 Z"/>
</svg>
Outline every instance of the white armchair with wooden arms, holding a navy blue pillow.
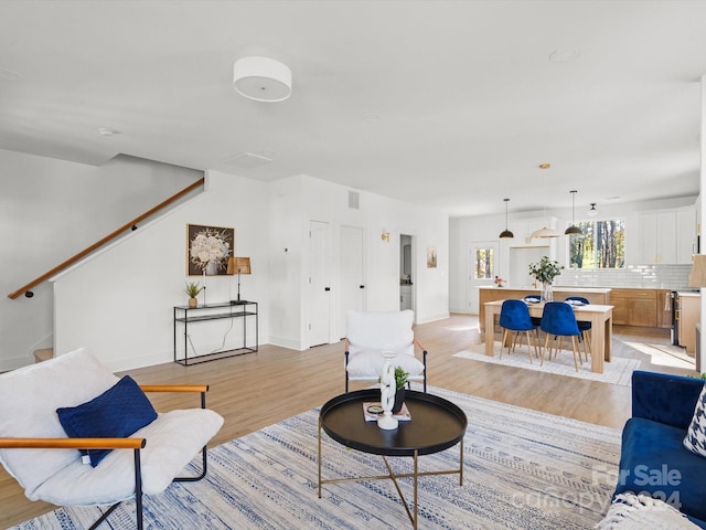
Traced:
<svg viewBox="0 0 706 530">
<path fill-rule="evenodd" d="M 142 529 L 142 494 L 157 495 L 172 481 L 203 478 L 206 444 L 223 425 L 221 415 L 205 409 L 207 385 L 137 388 L 132 382 L 133 395 L 137 392 L 153 415 L 140 389 L 197 393 L 201 407 L 157 413 L 156 420 L 126 437 L 68 437 L 57 409 L 82 409 L 106 391 L 113 395 L 118 381 L 83 348 L 0 374 L 0 463 L 30 500 L 108 507 L 92 529 L 130 498 L 136 500 L 137 528 Z M 116 400 L 110 413 L 122 411 L 126 401 L 132 400 Z M 92 428 L 94 422 L 87 425 Z M 95 467 L 78 451 L 103 448 L 114 451 Z M 176 477 L 200 453 L 201 475 Z"/>
</svg>

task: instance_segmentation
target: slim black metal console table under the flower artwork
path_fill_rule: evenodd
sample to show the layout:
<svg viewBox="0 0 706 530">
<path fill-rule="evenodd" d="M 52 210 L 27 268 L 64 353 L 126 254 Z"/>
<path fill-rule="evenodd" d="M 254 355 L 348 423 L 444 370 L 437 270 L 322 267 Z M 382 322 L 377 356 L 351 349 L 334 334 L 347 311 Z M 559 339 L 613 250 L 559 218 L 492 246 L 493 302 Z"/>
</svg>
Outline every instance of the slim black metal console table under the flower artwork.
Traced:
<svg viewBox="0 0 706 530">
<path fill-rule="evenodd" d="M 201 362 L 215 361 L 226 357 L 239 356 L 243 353 L 256 352 L 258 349 L 258 307 L 257 301 L 238 301 L 237 304 L 224 301 L 221 304 L 204 304 L 196 307 L 174 306 L 174 362 L 188 367 Z M 242 322 L 242 347 L 227 348 L 203 354 L 192 354 L 189 357 L 189 328 L 199 322 L 210 320 L 232 319 L 235 329 L 235 319 Z M 247 325 L 249 319 L 255 319 L 255 343 L 248 344 Z M 179 341 L 179 331 L 183 331 L 183 350 Z M 225 342 L 225 339 L 224 339 Z"/>
</svg>

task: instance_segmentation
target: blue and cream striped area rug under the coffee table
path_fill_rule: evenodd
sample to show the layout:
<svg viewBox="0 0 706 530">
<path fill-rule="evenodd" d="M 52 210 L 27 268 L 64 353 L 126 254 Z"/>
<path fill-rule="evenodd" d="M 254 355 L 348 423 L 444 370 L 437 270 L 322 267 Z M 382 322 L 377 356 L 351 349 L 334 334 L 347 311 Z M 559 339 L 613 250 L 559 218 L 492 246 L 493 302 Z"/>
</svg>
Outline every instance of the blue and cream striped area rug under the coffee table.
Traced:
<svg viewBox="0 0 706 530">
<path fill-rule="evenodd" d="M 419 478 L 420 529 L 586 529 L 602 519 L 616 484 L 619 431 L 429 389 L 469 418 L 464 477 Z M 414 421 L 414 418 L 413 418 Z M 409 519 L 391 480 L 324 485 L 317 494 L 318 410 L 210 451 L 208 475 L 145 498 L 149 529 L 400 529 Z M 384 474 L 382 459 L 324 435 L 324 478 Z M 419 459 L 420 471 L 458 466 L 459 447 Z M 410 458 L 391 458 L 397 471 Z M 402 479 L 407 499 L 411 483 Z M 15 529 L 81 529 L 96 508 L 57 509 Z M 108 519 L 135 528 L 127 502 Z"/>
</svg>

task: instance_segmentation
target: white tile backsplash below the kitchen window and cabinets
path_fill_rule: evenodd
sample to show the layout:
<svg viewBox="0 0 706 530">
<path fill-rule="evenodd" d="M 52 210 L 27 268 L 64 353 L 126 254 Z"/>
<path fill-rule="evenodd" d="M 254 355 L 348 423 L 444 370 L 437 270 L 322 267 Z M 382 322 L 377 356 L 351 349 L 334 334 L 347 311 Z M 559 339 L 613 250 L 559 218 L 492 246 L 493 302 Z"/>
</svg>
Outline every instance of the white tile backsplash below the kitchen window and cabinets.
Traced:
<svg viewBox="0 0 706 530">
<path fill-rule="evenodd" d="M 570 287 L 643 287 L 695 290 L 688 287 L 691 265 L 627 265 L 621 269 L 564 269 L 554 285 Z"/>
</svg>

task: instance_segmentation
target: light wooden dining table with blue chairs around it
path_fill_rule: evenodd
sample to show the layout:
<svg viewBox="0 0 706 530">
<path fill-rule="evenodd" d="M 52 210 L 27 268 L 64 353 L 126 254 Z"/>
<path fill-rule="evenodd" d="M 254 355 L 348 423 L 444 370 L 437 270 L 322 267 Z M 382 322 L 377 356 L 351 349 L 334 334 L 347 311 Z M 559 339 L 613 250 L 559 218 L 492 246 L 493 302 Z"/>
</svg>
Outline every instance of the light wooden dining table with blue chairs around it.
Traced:
<svg viewBox="0 0 706 530">
<path fill-rule="evenodd" d="M 485 303 L 485 354 L 495 354 L 495 315 L 505 300 Z M 585 306 L 571 306 L 576 320 L 591 322 L 591 371 L 603 373 L 603 362 L 610 362 L 611 342 L 613 338 L 613 306 L 587 304 Z M 530 316 L 542 317 L 544 303 L 527 304 Z"/>
</svg>

